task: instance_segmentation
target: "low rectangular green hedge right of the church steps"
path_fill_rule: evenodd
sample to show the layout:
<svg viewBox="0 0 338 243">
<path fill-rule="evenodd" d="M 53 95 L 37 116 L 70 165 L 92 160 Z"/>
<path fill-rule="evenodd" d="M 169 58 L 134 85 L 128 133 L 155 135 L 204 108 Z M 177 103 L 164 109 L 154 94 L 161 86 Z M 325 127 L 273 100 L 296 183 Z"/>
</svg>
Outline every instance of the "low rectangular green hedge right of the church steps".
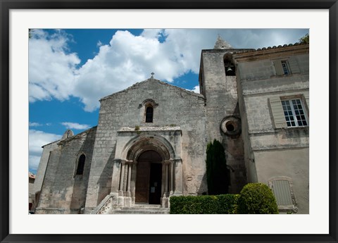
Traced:
<svg viewBox="0 0 338 243">
<path fill-rule="evenodd" d="M 239 195 L 170 197 L 170 214 L 232 214 L 236 213 Z"/>
</svg>

